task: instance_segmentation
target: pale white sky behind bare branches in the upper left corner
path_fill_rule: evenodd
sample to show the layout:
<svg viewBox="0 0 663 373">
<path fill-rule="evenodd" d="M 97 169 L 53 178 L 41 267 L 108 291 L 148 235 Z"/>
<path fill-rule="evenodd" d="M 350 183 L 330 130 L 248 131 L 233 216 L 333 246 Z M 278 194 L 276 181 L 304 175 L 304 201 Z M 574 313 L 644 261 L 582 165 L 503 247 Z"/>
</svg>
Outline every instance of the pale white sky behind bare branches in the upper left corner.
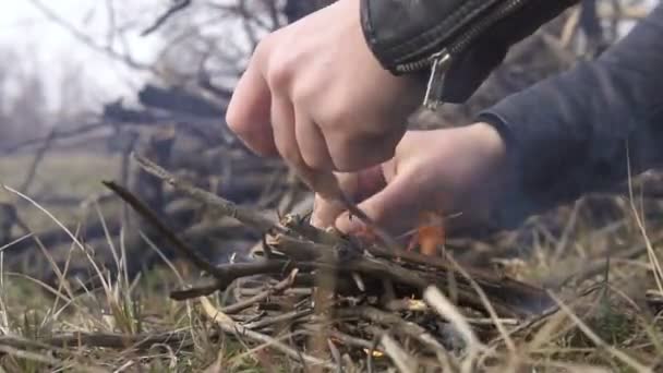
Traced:
<svg viewBox="0 0 663 373">
<path fill-rule="evenodd" d="M 109 26 L 106 0 L 41 0 L 57 14 L 93 35 L 97 43 L 106 43 Z M 128 34 L 132 56 L 148 62 L 158 46 L 158 36 L 140 36 L 140 31 L 156 19 L 168 0 L 113 0 L 118 11 L 116 23 L 136 21 L 137 27 Z M 74 67 L 88 87 L 86 99 L 100 104 L 120 95 L 130 95 L 145 75 L 125 68 L 104 53 L 77 40 L 70 32 L 49 20 L 31 0 L 12 0 L 3 3 L 0 12 L 0 47 L 19 52 L 22 69 L 35 69 L 51 82 L 49 93 L 57 96 L 57 82 Z"/>
</svg>

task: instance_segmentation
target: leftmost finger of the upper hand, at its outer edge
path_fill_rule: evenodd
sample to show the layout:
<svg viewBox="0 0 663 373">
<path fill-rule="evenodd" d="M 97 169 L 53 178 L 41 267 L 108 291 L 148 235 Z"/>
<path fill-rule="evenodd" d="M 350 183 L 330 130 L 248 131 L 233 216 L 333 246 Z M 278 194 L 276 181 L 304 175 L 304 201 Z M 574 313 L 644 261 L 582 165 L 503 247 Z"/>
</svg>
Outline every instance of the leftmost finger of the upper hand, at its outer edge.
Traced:
<svg viewBox="0 0 663 373">
<path fill-rule="evenodd" d="M 272 93 L 262 73 L 266 60 L 263 49 L 256 49 L 238 82 L 228 104 L 226 122 L 251 151 L 273 156 L 278 153 L 270 123 Z"/>
</svg>

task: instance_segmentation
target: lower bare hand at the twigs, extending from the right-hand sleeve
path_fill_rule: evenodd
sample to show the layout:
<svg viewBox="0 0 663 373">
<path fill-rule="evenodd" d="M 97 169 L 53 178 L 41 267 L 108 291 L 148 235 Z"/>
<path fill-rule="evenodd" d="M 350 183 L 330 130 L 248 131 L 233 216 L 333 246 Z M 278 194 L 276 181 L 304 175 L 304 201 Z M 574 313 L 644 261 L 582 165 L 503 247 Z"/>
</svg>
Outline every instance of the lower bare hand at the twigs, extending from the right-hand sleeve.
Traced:
<svg viewBox="0 0 663 373">
<path fill-rule="evenodd" d="M 486 123 L 408 132 L 395 157 L 382 166 L 339 175 L 341 189 L 376 224 L 394 234 L 409 231 L 424 213 L 461 214 L 450 229 L 486 222 L 509 178 L 505 144 Z M 340 204 L 316 196 L 313 225 L 362 231 Z"/>
</svg>

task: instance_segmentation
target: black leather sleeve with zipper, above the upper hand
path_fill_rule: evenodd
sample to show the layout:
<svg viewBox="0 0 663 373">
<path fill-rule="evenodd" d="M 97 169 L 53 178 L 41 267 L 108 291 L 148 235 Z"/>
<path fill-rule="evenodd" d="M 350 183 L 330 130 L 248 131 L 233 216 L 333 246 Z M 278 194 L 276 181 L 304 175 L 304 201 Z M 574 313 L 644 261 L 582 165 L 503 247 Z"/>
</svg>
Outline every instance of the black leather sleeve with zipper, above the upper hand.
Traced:
<svg viewBox="0 0 663 373">
<path fill-rule="evenodd" d="M 360 0 L 370 49 L 395 75 L 427 79 L 449 57 L 441 99 L 467 100 L 508 49 L 579 0 Z"/>
</svg>

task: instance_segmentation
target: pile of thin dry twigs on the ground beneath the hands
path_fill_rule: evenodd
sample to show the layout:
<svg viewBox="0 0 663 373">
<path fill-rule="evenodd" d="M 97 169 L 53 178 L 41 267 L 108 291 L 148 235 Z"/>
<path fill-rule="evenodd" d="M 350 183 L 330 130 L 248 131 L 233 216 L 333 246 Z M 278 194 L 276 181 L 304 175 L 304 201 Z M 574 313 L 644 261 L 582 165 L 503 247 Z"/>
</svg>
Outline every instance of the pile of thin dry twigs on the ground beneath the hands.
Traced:
<svg viewBox="0 0 663 373">
<path fill-rule="evenodd" d="M 367 361 L 373 369 L 391 362 L 403 372 L 421 364 L 449 365 L 454 351 L 471 352 L 468 348 L 481 346 L 480 340 L 521 329 L 554 309 L 544 290 L 506 276 L 381 240 L 320 230 L 299 216 L 273 221 L 145 158 L 136 160 L 207 209 L 264 233 L 255 260 L 213 265 L 131 192 L 105 182 L 210 278 L 171 298 L 200 299 L 222 332 L 269 344 L 302 364 L 338 368 Z M 218 306 L 206 298 L 217 291 L 226 296 Z"/>
</svg>

